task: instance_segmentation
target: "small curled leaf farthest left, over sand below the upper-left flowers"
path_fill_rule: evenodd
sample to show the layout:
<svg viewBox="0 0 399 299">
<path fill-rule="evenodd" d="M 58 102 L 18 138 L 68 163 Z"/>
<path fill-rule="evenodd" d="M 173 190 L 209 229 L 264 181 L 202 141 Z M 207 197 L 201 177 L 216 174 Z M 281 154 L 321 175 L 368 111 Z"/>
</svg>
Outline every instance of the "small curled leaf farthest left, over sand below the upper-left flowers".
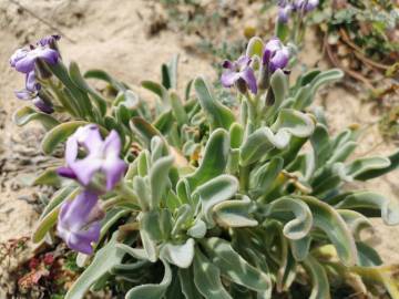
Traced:
<svg viewBox="0 0 399 299">
<path fill-rule="evenodd" d="M 60 124 L 60 122 L 51 115 L 38 112 L 30 106 L 24 106 L 16 111 L 14 114 L 12 114 L 12 121 L 18 126 L 23 126 L 32 121 L 38 121 L 43 125 L 47 131 Z"/>
</svg>

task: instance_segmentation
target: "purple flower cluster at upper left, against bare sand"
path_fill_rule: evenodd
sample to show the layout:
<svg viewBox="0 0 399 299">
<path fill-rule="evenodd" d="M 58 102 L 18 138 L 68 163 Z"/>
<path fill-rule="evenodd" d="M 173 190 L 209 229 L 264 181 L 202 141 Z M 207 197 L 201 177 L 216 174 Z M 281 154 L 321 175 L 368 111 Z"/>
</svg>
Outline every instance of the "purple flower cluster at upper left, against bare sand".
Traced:
<svg viewBox="0 0 399 299">
<path fill-rule="evenodd" d="M 40 111 L 49 114 L 54 110 L 48 96 L 41 93 L 37 64 L 40 60 L 49 64 L 55 64 L 59 61 L 60 53 L 57 50 L 59 39 L 59 35 L 43 38 L 35 45 L 18 49 L 10 58 L 10 65 L 25 75 L 25 87 L 16 92 L 17 97 L 31 100 Z"/>
</svg>

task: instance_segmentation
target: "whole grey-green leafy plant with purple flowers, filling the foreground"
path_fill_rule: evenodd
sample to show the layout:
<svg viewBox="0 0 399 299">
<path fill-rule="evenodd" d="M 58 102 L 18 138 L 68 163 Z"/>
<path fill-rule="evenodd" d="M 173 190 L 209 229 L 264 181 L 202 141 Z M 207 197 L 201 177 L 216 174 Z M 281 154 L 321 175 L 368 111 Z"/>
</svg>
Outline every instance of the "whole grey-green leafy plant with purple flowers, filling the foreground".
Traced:
<svg viewBox="0 0 399 299">
<path fill-rule="evenodd" d="M 54 110 L 22 107 L 17 124 L 43 124 L 45 154 L 65 142 L 65 162 L 34 182 L 59 190 L 32 239 L 59 236 L 79 252 L 84 271 L 66 299 L 102 288 L 133 299 L 326 299 L 342 289 L 399 298 L 393 267 L 362 234 L 370 217 L 399 224 L 399 207 L 345 185 L 393 171 L 399 152 L 348 161 L 361 131 L 331 135 L 311 107 L 341 71 L 310 70 L 289 86 L 288 49 L 253 38 L 223 63 L 222 83 L 239 103 L 231 110 L 202 76 L 181 97 L 177 56 L 162 65 L 161 84 L 142 82 L 153 105 L 103 71 L 66 68 L 49 43 L 19 50 L 11 65 L 20 71 L 16 56 L 29 58 L 23 70 Z"/>
</svg>

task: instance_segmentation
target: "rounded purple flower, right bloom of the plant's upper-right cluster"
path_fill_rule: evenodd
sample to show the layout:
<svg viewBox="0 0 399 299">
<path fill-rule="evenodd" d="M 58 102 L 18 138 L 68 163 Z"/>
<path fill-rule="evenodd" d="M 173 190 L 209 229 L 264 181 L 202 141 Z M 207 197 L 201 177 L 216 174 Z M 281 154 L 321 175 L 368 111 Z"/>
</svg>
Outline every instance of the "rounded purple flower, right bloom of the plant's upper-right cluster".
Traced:
<svg viewBox="0 0 399 299">
<path fill-rule="evenodd" d="M 278 69 L 286 68 L 288 60 L 288 48 L 279 39 L 273 38 L 265 44 L 262 62 L 264 65 L 268 65 L 268 70 L 272 73 Z"/>
</svg>

